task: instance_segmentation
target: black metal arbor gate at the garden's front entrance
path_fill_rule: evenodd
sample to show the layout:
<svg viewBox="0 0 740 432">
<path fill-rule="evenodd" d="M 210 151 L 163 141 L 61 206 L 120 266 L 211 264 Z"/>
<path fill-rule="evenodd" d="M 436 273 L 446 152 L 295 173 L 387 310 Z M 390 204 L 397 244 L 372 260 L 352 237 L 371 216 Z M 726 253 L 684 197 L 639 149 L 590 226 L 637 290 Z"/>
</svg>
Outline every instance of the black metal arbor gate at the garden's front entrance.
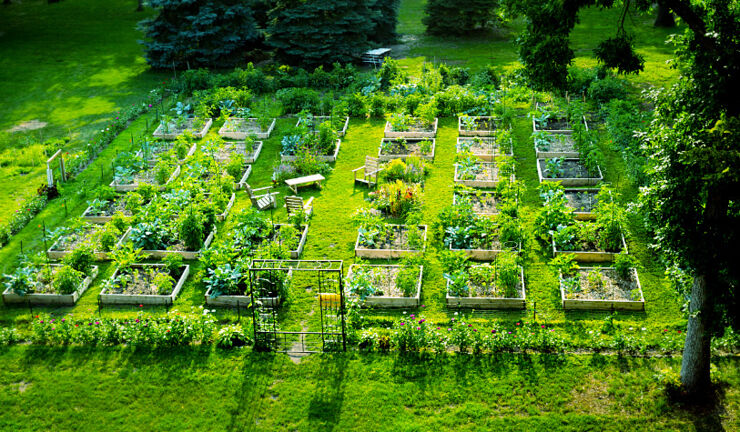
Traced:
<svg viewBox="0 0 740 432">
<path fill-rule="evenodd" d="M 253 260 L 249 286 L 255 347 L 297 353 L 346 351 L 342 268 L 342 261 L 336 260 Z M 305 325 L 300 331 L 280 329 L 277 296 L 284 291 L 281 285 L 286 279 L 310 282 L 318 299 L 319 331 L 311 331 Z M 269 296 L 261 297 L 260 293 Z M 311 319 L 315 322 L 315 314 Z"/>
</svg>

